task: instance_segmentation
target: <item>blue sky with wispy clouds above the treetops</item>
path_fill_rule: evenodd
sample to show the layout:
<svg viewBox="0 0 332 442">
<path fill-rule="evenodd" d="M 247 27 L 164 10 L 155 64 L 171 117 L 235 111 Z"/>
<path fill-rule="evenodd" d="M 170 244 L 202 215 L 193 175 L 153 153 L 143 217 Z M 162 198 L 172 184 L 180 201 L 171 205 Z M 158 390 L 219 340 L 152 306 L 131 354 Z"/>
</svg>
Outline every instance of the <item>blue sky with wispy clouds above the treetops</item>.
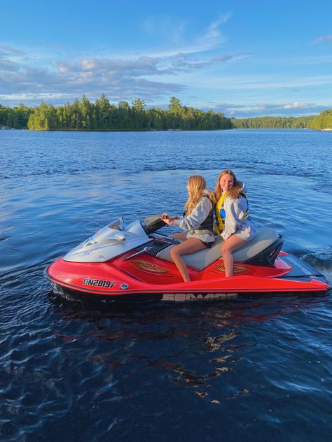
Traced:
<svg viewBox="0 0 332 442">
<path fill-rule="evenodd" d="M 331 0 L 0 1 L 0 104 L 184 106 L 227 117 L 332 108 Z"/>
</svg>

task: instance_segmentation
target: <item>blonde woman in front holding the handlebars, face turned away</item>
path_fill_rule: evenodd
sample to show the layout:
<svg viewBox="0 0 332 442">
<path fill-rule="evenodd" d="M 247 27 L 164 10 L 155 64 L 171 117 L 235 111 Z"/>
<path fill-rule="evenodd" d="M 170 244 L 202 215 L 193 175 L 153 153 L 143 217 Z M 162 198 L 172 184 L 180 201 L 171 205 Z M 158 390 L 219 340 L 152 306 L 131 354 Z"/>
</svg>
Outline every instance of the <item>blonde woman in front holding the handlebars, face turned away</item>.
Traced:
<svg viewBox="0 0 332 442">
<path fill-rule="evenodd" d="M 214 242 L 213 217 L 214 217 L 214 192 L 207 190 L 205 179 L 200 175 L 188 178 L 188 201 L 184 208 L 184 216 L 168 216 L 162 213 L 162 220 L 168 225 L 179 226 L 186 230 L 185 233 L 174 234 L 173 238 L 184 241 L 172 248 L 170 255 L 174 264 L 179 269 L 184 282 L 191 279 L 182 255 L 188 255 L 198 250 L 211 247 Z"/>
</svg>

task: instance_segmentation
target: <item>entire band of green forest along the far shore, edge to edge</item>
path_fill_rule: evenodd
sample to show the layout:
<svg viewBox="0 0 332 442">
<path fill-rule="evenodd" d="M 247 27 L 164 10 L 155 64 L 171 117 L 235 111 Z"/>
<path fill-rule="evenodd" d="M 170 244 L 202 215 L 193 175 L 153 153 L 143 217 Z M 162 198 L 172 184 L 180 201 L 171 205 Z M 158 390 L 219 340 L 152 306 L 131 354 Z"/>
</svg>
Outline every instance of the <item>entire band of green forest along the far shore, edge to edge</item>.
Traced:
<svg viewBox="0 0 332 442">
<path fill-rule="evenodd" d="M 223 113 L 207 112 L 184 106 L 170 98 L 167 110 L 146 108 L 137 98 L 131 104 L 111 104 L 105 94 L 95 102 L 85 95 L 81 101 L 63 106 L 42 102 L 39 106 L 24 104 L 10 108 L 0 104 L 0 129 L 36 131 L 148 131 L 148 130 L 214 130 L 214 129 L 326 129 L 332 128 L 332 109 L 309 117 L 228 118 Z"/>
</svg>

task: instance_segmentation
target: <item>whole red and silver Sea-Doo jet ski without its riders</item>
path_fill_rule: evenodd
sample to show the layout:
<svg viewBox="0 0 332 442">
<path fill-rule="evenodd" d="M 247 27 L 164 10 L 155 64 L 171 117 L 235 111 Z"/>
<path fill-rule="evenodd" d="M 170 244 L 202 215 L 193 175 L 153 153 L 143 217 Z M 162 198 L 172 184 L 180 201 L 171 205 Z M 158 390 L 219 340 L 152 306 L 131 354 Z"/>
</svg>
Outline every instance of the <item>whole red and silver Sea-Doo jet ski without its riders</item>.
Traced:
<svg viewBox="0 0 332 442">
<path fill-rule="evenodd" d="M 332 288 L 319 271 L 281 251 L 282 236 L 269 227 L 233 253 L 230 278 L 221 238 L 212 248 L 184 255 L 191 277 L 184 283 L 170 257 L 179 241 L 158 232 L 165 225 L 160 215 L 127 226 L 119 218 L 50 264 L 45 276 L 57 292 L 103 301 L 210 301 L 241 294 L 324 294 Z"/>
</svg>

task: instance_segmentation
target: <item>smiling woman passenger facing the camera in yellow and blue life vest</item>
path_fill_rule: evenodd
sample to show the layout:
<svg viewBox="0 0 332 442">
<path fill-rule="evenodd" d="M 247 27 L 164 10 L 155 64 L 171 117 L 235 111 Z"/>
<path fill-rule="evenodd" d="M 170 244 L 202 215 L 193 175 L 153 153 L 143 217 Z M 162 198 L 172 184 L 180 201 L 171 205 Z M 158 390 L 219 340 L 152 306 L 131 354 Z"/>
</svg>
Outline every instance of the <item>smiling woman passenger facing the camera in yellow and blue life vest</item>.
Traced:
<svg viewBox="0 0 332 442">
<path fill-rule="evenodd" d="M 250 241 L 257 233 L 249 218 L 249 204 L 243 183 L 235 173 L 226 169 L 216 182 L 216 233 L 221 235 L 221 254 L 225 276 L 233 276 L 233 252 Z"/>
</svg>

